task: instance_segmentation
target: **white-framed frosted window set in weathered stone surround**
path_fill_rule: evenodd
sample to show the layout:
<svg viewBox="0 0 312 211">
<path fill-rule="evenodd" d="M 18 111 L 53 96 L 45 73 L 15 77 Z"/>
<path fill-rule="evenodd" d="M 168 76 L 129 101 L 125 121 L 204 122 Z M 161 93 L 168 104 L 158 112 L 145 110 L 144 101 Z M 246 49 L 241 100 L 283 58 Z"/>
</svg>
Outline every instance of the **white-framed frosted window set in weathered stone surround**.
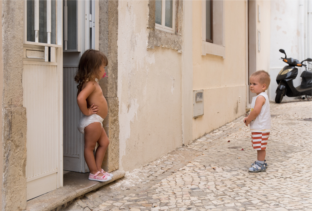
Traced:
<svg viewBox="0 0 312 211">
<path fill-rule="evenodd" d="M 174 1 L 155 1 L 155 28 L 174 33 Z"/>
</svg>

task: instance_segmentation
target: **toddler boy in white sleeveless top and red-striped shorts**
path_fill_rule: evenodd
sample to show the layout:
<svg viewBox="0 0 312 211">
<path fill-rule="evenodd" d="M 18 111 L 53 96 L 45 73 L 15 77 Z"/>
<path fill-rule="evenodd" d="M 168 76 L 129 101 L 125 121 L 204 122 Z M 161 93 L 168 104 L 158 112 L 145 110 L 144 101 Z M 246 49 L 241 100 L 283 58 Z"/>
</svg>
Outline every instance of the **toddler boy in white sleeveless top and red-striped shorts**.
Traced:
<svg viewBox="0 0 312 211">
<path fill-rule="evenodd" d="M 259 70 L 249 78 L 250 91 L 257 95 L 252 98 L 249 115 L 244 119 L 246 126 L 250 124 L 251 143 L 257 150 L 258 160 L 248 169 L 251 172 L 266 171 L 266 144 L 271 131 L 270 103 L 266 90 L 270 85 L 270 75 Z"/>
</svg>

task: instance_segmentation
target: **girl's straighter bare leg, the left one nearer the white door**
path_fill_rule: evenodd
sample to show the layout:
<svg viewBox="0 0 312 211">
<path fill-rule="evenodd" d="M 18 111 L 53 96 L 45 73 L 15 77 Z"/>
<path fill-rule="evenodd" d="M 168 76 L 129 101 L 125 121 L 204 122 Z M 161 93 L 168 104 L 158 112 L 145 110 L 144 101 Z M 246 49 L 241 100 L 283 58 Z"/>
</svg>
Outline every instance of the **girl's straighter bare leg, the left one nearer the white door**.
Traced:
<svg viewBox="0 0 312 211">
<path fill-rule="evenodd" d="M 87 163 L 90 173 L 96 174 L 98 172 L 95 158 L 93 155 L 93 150 L 95 148 L 96 142 L 99 140 L 102 133 L 102 125 L 100 122 L 93 122 L 85 127 L 85 162 Z M 103 176 L 104 174 L 99 174 L 98 176 Z"/>
</svg>

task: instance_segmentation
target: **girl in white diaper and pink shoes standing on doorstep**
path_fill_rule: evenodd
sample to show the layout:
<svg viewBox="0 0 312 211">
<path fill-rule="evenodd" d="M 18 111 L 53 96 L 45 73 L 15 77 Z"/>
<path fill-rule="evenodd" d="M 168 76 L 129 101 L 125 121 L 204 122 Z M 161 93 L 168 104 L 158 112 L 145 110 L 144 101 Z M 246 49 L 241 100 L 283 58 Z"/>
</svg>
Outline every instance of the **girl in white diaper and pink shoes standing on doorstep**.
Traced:
<svg viewBox="0 0 312 211">
<path fill-rule="evenodd" d="M 110 143 L 103 128 L 103 120 L 108 108 L 99 79 L 106 75 L 104 67 L 108 60 L 104 53 L 89 49 L 80 58 L 75 81 L 78 83 L 77 104 L 83 114 L 78 123 L 78 130 L 85 134 L 85 162 L 90 169 L 90 180 L 105 182 L 113 174 L 102 169 L 106 149 Z M 96 143 L 99 144 L 93 155 Z"/>
</svg>

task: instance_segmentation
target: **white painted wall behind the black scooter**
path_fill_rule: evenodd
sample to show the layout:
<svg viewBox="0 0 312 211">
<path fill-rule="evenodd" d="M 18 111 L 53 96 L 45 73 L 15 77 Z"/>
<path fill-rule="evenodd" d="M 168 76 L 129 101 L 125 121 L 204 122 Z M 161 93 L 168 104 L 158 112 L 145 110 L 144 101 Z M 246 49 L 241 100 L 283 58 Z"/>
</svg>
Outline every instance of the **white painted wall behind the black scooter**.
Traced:
<svg viewBox="0 0 312 211">
<path fill-rule="evenodd" d="M 303 5 L 301 11 L 300 3 Z M 307 48 L 311 48 L 311 46 L 307 45 L 307 37 L 311 39 L 311 34 L 307 32 L 307 7 L 308 1 L 271 1 L 271 85 L 268 91 L 272 101 L 275 100 L 275 91 L 277 89 L 276 76 L 287 65 L 279 60 L 280 57 L 285 56 L 279 52 L 279 49 L 284 49 L 287 57 L 299 61 L 311 57 L 307 53 Z M 303 18 L 303 27 L 300 27 L 301 18 Z M 301 83 L 301 70 L 298 69 L 298 76 L 293 81 L 294 86 L 299 86 Z M 283 101 L 287 99 L 294 99 L 294 97 L 284 96 Z"/>
</svg>

